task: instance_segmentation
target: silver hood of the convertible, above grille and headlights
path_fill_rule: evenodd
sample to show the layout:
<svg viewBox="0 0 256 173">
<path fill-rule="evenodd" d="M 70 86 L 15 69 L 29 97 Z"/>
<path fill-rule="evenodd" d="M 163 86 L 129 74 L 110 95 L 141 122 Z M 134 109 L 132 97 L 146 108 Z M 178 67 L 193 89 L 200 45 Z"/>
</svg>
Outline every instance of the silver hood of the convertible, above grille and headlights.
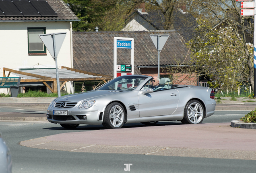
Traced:
<svg viewBox="0 0 256 173">
<path fill-rule="evenodd" d="M 96 90 L 96 91 L 88 91 L 84 93 L 76 93 L 71 95 L 65 95 L 56 99 L 59 101 L 70 101 L 70 102 L 79 102 L 79 101 L 89 101 L 91 99 L 97 99 L 99 97 L 104 97 L 108 95 L 115 95 L 118 93 L 123 93 L 125 91 L 113 91 L 113 90 Z"/>
</svg>

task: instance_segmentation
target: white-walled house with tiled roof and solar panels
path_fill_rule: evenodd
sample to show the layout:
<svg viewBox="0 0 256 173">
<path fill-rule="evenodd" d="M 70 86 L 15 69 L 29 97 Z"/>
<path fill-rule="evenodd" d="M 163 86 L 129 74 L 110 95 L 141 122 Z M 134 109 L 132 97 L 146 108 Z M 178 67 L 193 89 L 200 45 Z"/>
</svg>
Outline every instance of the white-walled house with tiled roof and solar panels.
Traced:
<svg viewBox="0 0 256 173">
<path fill-rule="evenodd" d="M 73 68 L 74 21 L 79 19 L 62 0 L 0 1 L 0 77 L 8 75 L 3 74 L 4 68 L 56 68 L 39 34 L 66 32 L 58 54 L 58 66 Z M 13 72 L 9 76 L 17 77 Z M 0 93 L 8 93 L 8 90 L 0 89 Z"/>
</svg>

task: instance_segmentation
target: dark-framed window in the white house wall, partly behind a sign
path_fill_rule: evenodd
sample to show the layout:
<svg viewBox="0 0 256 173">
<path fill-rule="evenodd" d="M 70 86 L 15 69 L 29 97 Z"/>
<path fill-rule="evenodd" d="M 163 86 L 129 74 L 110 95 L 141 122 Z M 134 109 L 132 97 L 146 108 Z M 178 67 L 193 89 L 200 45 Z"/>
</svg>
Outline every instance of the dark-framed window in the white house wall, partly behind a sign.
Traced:
<svg viewBox="0 0 256 173">
<path fill-rule="evenodd" d="M 39 38 L 39 34 L 45 34 L 46 28 L 27 28 L 29 54 L 46 53 L 46 48 Z"/>
</svg>

